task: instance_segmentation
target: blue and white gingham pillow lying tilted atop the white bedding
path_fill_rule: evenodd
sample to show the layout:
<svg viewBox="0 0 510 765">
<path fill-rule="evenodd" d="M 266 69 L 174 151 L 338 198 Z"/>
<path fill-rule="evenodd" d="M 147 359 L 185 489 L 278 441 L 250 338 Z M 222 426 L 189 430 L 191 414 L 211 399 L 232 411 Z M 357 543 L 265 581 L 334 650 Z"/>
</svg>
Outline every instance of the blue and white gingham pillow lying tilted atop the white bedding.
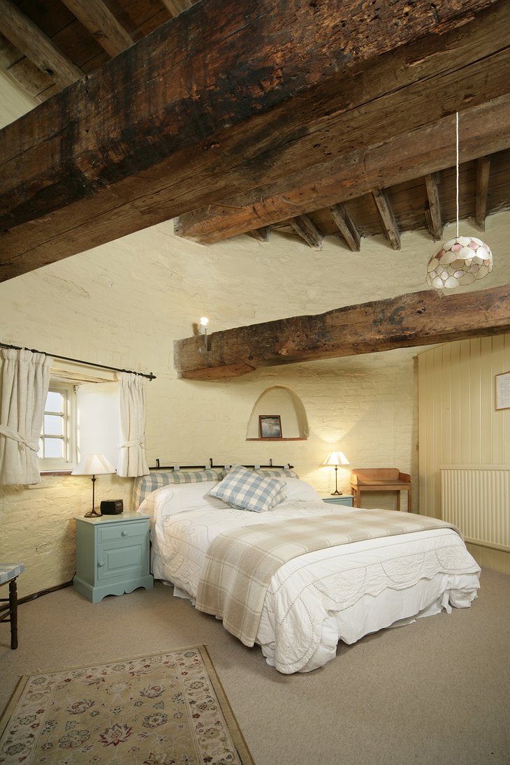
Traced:
<svg viewBox="0 0 510 765">
<path fill-rule="evenodd" d="M 284 501 L 285 495 L 281 491 L 284 486 L 283 480 L 261 476 L 242 465 L 236 465 L 210 490 L 210 494 L 239 510 L 265 513 Z"/>
</svg>

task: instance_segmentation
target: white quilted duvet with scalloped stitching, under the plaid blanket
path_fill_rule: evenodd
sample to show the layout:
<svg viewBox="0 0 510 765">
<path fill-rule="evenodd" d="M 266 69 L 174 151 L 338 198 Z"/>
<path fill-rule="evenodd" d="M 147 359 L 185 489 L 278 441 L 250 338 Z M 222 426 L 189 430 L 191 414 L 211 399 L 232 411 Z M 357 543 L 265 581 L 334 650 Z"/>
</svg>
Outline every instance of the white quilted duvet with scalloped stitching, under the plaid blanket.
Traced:
<svg viewBox="0 0 510 765">
<path fill-rule="evenodd" d="M 303 481 L 287 480 L 287 501 L 268 513 L 233 509 L 209 495 L 214 483 L 164 487 L 139 511 L 153 516 L 155 578 L 194 602 L 203 558 L 214 537 L 239 526 L 296 517 L 359 513 L 326 504 Z M 307 488 L 306 488 L 307 487 Z M 294 497 L 294 498 L 293 498 Z M 280 672 L 310 672 L 336 656 L 339 640 L 354 643 L 383 627 L 469 607 L 479 566 L 452 529 L 352 542 L 301 555 L 282 566 L 265 597 L 257 643 Z"/>
</svg>

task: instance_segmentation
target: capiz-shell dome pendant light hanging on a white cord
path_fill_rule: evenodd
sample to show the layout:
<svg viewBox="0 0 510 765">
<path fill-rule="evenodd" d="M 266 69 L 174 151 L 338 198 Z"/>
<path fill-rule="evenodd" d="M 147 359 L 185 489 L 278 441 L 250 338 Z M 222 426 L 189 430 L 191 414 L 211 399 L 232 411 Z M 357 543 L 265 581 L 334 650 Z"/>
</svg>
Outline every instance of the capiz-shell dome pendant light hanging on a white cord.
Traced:
<svg viewBox="0 0 510 765">
<path fill-rule="evenodd" d="M 427 263 L 427 284 L 453 289 L 473 284 L 492 271 L 492 252 L 476 236 L 459 236 L 459 112 L 456 112 L 456 237 L 443 242 Z"/>
</svg>

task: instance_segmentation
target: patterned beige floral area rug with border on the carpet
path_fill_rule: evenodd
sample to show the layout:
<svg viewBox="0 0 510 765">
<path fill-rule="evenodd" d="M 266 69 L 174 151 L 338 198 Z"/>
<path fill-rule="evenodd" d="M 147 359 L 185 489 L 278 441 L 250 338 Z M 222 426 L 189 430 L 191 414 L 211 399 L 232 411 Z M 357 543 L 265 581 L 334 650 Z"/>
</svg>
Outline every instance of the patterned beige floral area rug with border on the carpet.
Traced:
<svg viewBox="0 0 510 765">
<path fill-rule="evenodd" d="M 0 763 L 253 765 L 205 646 L 26 675 Z"/>
</svg>

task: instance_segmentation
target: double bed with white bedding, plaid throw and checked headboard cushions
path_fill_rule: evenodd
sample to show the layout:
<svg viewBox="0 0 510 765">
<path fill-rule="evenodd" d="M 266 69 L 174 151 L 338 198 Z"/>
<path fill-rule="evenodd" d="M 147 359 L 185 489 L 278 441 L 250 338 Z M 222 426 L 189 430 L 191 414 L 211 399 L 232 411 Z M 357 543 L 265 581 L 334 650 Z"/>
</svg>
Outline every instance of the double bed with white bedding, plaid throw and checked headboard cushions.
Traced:
<svg viewBox="0 0 510 765">
<path fill-rule="evenodd" d="M 222 618 L 226 629 L 246 645 L 258 644 L 266 662 L 279 672 L 310 672 L 336 656 L 340 641 L 355 643 L 385 627 L 441 610 L 450 613 L 452 607 L 469 607 L 476 598 L 479 565 L 450 524 L 393 510 L 323 503 L 313 487 L 291 470 L 246 471 L 252 474 L 252 482 L 265 485 L 264 491 L 271 484 L 272 498 L 266 502 L 266 491 L 263 509 L 254 510 L 242 502 L 260 503 L 260 497 L 253 500 L 248 492 L 246 500 L 245 491 L 239 500 L 238 492 L 233 496 L 241 505 L 236 506 L 232 493 L 222 489 L 226 483 L 235 483 L 236 470 L 246 469 L 235 466 L 226 474 L 214 470 L 151 473 L 135 481 L 135 508 L 151 516 L 154 578 L 172 584 L 177 597 L 186 597 L 200 610 Z M 245 474 L 239 475 L 245 480 Z M 398 531 L 382 528 L 386 520 L 396 524 Z M 414 530 L 414 524 L 419 530 Z M 304 532 L 315 526 L 323 527 L 317 533 L 323 544 L 303 545 Z M 280 560 L 280 550 L 289 546 L 287 539 L 282 542 L 278 536 L 282 533 L 288 534 L 293 552 L 289 559 Z M 258 562 L 253 563 L 250 545 L 255 538 L 262 539 L 262 544 L 270 539 L 271 554 L 277 551 L 272 568 L 265 565 L 269 553 L 267 558 L 259 553 Z M 266 581 L 260 583 L 254 575 L 253 581 L 244 582 L 241 576 L 239 584 L 239 564 L 230 557 L 232 539 L 235 545 L 248 545 L 239 558 L 249 561 L 248 569 L 267 568 Z M 224 559 L 218 560 L 217 555 Z M 222 607 L 214 601 L 230 587 L 234 570 L 237 579 L 232 584 L 234 594 L 229 591 L 229 605 L 233 601 L 239 608 L 240 603 L 248 603 L 252 590 L 260 601 L 259 613 L 252 615 L 256 625 L 252 633 L 244 630 L 244 622 L 240 631 L 232 629 L 223 601 Z M 219 580 L 221 586 L 216 586 Z M 235 591 L 239 586 L 245 586 L 247 594 Z M 213 601 L 204 596 L 209 590 Z"/>
</svg>

